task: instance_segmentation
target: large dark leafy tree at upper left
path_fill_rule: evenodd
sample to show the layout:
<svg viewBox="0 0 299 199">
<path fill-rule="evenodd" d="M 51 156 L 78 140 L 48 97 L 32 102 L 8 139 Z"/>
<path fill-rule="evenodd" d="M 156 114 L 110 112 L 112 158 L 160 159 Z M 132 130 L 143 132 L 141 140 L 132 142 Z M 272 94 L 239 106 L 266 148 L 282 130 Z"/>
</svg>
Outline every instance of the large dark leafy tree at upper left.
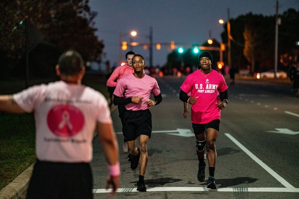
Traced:
<svg viewBox="0 0 299 199">
<path fill-rule="evenodd" d="M 26 31 L 22 23 L 25 18 L 45 36 L 43 48 L 39 50 L 74 49 L 86 61 L 97 60 L 102 54 L 104 44 L 95 36 L 97 29 L 93 27 L 97 13 L 90 10 L 88 0 L 4 0 L 0 8 L 3 19 L 0 21 L 0 53 L 12 59 L 20 59 L 25 52 Z M 30 57 L 32 59 L 45 63 L 45 60 L 36 60 L 36 56 Z"/>
</svg>

